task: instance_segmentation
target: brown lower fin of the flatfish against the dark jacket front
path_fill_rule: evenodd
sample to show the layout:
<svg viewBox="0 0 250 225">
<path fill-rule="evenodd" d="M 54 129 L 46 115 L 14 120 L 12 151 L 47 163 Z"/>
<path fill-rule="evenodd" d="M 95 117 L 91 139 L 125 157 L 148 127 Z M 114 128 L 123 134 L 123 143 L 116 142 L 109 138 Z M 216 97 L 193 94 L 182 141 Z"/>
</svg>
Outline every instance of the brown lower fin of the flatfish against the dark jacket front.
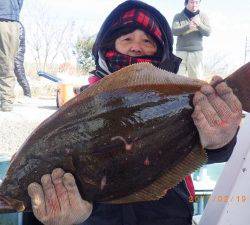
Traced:
<svg viewBox="0 0 250 225">
<path fill-rule="evenodd" d="M 125 204 L 132 202 L 159 200 L 166 195 L 168 189 L 173 188 L 179 182 L 181 182 L 182 179 L 184 179 L 184 177 L 180 178 L 179 174 L 189 175 L 195 169 L 205 164 L 206 161 L 207 154 L 205 150 L 200 145 L 197 145 L 194 150 L 191 151 L 187 155 L 187 157 L 183 159 L 181 163 L 165 172 L 160 178 L 155 180 L 149 186 L 129 196 L 111 200 L 108 202 L 112 204 Z M 176 182 L 176 180 L 179 181 Z"/>
</svg>

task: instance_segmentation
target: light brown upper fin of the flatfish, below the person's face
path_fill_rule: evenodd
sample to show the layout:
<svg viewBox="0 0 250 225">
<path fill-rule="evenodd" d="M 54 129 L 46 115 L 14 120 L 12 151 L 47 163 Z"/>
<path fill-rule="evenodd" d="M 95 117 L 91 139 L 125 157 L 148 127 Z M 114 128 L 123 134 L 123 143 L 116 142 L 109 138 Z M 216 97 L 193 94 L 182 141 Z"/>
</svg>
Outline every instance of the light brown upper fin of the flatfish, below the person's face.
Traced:
<svg viewBox="0 0 250 225">
<path fill-rule="evenodd" d="M 163 85 L 164 90 L 168 89 L 166 87 L 174 86 L 177 87 L 177 91 L 183 92 L 189 89 L 197 91 L 203 84 L 206 84 L 206 82 L 173 74 L 157 68 L 148 62 L 136 63 L 105 76 L 99 82 L 88 87 L 84 92 L 68 101 L 65 104 L 67 107 L 63 106 L 62 109 L 68 108 L 71 104 L 74 105 L 76 102 L 82 101 L 85 98 L 121 88 L 129 89 L 140 87 L 140 89 L 142 89 L 143 86 L 148 88 L 150 85 L 154 87 Z M 183 86 L 185 88 L 182 88 Z"/>
</svg>

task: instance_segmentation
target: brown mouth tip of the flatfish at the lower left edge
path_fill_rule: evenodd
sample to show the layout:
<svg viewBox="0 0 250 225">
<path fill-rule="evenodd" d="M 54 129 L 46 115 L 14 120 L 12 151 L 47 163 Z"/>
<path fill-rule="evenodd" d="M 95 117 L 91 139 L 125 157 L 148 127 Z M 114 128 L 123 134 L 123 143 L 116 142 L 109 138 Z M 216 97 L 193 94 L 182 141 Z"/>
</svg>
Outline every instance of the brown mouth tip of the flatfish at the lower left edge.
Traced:
<svg viewBox="0 0 250 225">
<path fill-rule="evenodd" d="M 0 213 L 24 211 L 25 206 L 21 201 L 10 199 L 0 194 Z"/>
</svg>

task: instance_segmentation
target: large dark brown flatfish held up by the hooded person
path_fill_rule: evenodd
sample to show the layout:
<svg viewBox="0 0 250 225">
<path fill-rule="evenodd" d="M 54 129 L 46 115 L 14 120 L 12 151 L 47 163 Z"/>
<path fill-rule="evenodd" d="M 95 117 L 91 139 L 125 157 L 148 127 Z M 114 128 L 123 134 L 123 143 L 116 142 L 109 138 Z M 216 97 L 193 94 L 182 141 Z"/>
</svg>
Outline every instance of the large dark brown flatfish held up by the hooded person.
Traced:
<svg viewBox="0 0 250 225">
<path fill-rule="evenodd" d="M 250 63 L 225 81 L 249 112 Z M 192 97 L 203 84 L 149 63 L 104 77 L 20 147 L 0 187 L 0 211 L 31 210 L 27 186 L 57 167 L 75 176 L 91 202 L 161 198 L 206 162 L 191 118 Z"/>
</svg>

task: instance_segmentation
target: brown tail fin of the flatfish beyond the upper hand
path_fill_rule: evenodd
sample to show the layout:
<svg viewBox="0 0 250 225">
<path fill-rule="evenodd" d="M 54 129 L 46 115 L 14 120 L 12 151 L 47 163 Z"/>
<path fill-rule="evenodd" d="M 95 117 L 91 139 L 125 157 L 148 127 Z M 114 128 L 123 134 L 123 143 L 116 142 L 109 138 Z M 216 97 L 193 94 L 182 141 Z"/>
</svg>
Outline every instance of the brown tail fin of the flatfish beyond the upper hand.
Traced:
<svg viewBox="0 0 250 225">
<path fill-rule="evenodd" d="M 239 98 L 242 109 L 250 112 L 250 62 L 228 76 L 225 82 Z"/>
</svg>

